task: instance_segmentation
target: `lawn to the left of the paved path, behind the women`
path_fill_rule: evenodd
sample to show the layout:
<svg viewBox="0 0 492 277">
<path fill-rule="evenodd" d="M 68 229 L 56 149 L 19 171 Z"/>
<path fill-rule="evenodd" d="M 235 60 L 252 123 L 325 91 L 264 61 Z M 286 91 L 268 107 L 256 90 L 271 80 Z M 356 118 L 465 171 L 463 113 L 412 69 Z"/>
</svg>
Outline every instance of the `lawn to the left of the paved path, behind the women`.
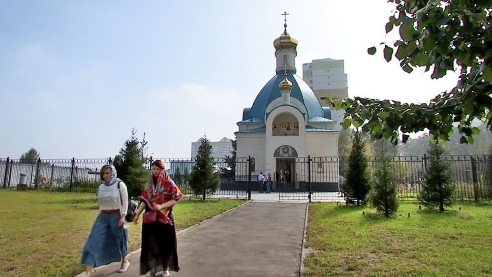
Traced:
<svg viewBox="0 0 492 277">
<path fill-rule="evenodd" d="M 178 230 L 244 200 L 183 198 L 173 210 Z M 95 193 L 0 190 L 0 276 L 74 276 L 98 213 Z M 142 220 L 139 220 L 141 223 Z M 129 251 L 140 248 L 141 225 L 130 223 Z"/>
</svg>

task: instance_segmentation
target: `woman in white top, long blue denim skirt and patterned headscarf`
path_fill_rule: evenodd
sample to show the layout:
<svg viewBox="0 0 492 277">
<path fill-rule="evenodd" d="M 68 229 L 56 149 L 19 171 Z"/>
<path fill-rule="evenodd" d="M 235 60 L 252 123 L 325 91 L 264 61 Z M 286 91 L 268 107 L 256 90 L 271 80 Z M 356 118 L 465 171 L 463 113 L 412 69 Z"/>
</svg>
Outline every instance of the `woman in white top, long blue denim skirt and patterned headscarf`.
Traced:
<svg viewBox="0 0 492 277">
<path fill-rule="evenodd" d="M 128 210 L 128 191 L 123 181 L 116 178 L 113 165 L 104 165 L 100 176 L 104 181 L 97 192 L 100 212 L 82 249 L 81 261 L 86 265 L 87 277 L 91 276 L 94 266 L 121 261 L 120 273 L 127 271 L 130 266 L 126 259 L 128 224 L 124 219 Z"/>
</svg>

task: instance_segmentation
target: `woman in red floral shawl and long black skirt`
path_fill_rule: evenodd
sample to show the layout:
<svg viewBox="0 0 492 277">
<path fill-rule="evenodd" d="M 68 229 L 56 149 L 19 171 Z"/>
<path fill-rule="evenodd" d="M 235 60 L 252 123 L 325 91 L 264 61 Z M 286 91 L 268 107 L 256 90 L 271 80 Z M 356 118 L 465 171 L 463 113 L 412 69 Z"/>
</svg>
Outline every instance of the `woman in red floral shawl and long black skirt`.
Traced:
<svg viewBox="0 0 492 277">
<path fill-rule="evenodd" d="M 142 224 L 142 251 L 140 254 L 140 275 L 151 271 L 155 276 L 162 266 L 162 276 L 170 276 L 169 270 L 178 272 L 178 251 L 176 229 L 172 210 L 183 194 L 171 180 L 160 160 L 152 163 L 149 184 L 140 195 L 141 202 L 133 216 L 137 223 L 145 209 Z"/>
</svg>

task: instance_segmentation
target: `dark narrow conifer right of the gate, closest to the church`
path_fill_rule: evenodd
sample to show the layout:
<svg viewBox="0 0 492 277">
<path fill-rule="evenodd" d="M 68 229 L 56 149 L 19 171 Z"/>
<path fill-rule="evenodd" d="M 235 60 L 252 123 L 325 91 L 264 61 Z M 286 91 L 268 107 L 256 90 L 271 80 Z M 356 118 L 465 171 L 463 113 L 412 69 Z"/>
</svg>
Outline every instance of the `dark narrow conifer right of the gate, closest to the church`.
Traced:
<svg viewBox="0 0 492 277">
<path fill-rule="evenodd" d="M 366 201 L 370 190 L 369 164 L 366 156 L 366 143 L 362 138 L 361 131 L 355 131 L 352 139 L 352 150 L 348 157 L 348 170 L 346 182 L 343 186 L 345 202 L 356 203 L 360 206 Z"/>
</svg>

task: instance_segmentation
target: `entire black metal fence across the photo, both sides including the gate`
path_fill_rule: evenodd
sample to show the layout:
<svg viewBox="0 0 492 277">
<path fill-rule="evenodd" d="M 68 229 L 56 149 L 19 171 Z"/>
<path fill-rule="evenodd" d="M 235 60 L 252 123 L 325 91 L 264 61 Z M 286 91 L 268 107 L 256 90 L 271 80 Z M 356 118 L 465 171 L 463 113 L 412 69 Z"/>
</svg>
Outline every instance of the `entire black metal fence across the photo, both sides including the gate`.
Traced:
<svg viewBox="0 0 492 277">
<path fill-rule="evenodd" d="M 151 157 L 144 164 L 150 165 L 156 158 Z M 184 194 L 191 195 L 190 173 L 195 165 L 194 158 L 159 158 L 167 172 Z M 455 185 L 456 200 L 492 199 L 492 156 L 448 155 Z M 0 158 L 0 187 L 16 188 L 25 178 L 29 188 L 96 192 L 101 184 L 99 169 L 111 158 L 102 159 L 37 159 L 22 161 Z M 376 162 L 369 159 L 369 170 L 373 173 Z M 416 200 L 429 165 L 424 156 L 396 156 L 392 159 L 393 182 L 398 187 L 401 200 Z M 289 157 L 278 158 L 275 172 L 261 170 L 254 159 L 215 159 L 215 169 L 220 175 L 218 190 L 209 197 L 251 198 L 251 191 L 258 191 L 257 176 L 260 172 L 270 173 L 272 188 L 279 200 L 336 200 L 341 197 L 340 189 L 348 166 L 347 157 Z M 123 180 L 125 181 L 125 180 Z"/>
</svg>

